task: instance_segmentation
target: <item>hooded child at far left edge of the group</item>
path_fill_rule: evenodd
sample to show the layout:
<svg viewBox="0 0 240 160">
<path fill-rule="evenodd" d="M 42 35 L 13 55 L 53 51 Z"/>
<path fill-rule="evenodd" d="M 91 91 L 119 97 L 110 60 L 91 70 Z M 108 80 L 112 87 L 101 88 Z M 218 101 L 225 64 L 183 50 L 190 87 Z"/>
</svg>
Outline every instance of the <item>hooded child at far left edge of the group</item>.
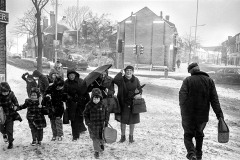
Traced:
<svg viewBox="0 0 240 160">
<path fill-rule="evenodd" d="M 6 115 L 6 121 L 4 124 L 0 124 L 0 131 L 3 134 L 4 141 L 8 144 L 8 149 L 13 148 L 13 125 L 14 120 L 16 120 L 16 115 L 18 120 L 21 121 L 20 115 L 16 112 L 18 106 L 18 100 L 15 97 L 13 91 L 7 82 L 0 83 L 0 106 L 2 106 L 3 111 Z"/>
</svg>

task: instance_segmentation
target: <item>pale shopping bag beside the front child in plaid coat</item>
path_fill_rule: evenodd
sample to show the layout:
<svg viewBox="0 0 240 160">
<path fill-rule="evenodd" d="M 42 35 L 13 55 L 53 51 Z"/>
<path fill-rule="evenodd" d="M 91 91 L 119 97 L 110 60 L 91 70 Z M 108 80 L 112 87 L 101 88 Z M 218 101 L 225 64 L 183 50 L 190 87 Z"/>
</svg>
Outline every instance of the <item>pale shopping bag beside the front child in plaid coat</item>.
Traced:
<svg viewBox="0 0 240 160">
<path fill-rule="evenodd" d="M 103 129 L 103 140 L 106 143 L 114 143 L 117 140 L 117 130 L 114 129 L 110 124 L 109 126 L 110 127 L 105 127 Z"/>
</svg>

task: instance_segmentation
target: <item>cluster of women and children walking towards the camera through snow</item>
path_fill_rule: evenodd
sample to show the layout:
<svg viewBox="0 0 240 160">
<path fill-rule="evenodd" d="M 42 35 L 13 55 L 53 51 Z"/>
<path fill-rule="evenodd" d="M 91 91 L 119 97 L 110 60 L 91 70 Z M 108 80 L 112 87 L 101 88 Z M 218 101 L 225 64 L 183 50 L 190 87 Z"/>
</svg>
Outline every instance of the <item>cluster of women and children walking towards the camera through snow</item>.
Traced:
<svg viewBox="0 0 240 160">
<path fill-rule="evenodd" d="M 125 73 L 125 74 L 124 74 Z M 24 73 L 22 79 L 27 84 L 27 95 L 23 104 L 19 104 L 17 97 L 7 82 L 0 83 L 0 106 L 3 107 L 6 121 L 0 125 L 8 149 L 13 148 L 13 126 L 15 119 L 12 113 L 27 108 L 27 120 L 32 134 L 31 145 L 41 145 L 43 129 L 47 126 L 44 115 L 48 115 L 52 129 L 52 141 L 63 139 L 63 114 L 68 113 L 72 129 L 72 141 L 77 141 L 81 133 L 89 131 L 93 140 L 94 156 L 99 157 L 99 152 L 104 150 L 102 138 L 103 128 L 108 126 L 110 113 L 103 99 L 114 96 L 114 84 L 118 86 L 117 98 L 120 113 L 115 119 L 121 123 L 121 139 L 124 142 L 126 125 L 130 126 L 129 142 L 134 142 L 134 124 L 140 122 L 139 114 L 131 113 L 134 97 L 131 93 L 142 94 L 138 90 L 140 82 L 133 75 L 134 68 L 127 66 L 114 78 L 105 70 L 91 85 L 86 86 L 84 80 L 75 69 L 67 70 L 64 80 L 60 63 L 56 62 L 49 75 L 44 75 L 38 70 L 32 74 Z M 91 95 L 91 96 L 90 96 Z M 11 113 L 12 112 L 12 113 Z M 84 123 L 85 120 L 85 123 Z M 85 126 L 87 125 L 87 128 Z"/>
</svg>

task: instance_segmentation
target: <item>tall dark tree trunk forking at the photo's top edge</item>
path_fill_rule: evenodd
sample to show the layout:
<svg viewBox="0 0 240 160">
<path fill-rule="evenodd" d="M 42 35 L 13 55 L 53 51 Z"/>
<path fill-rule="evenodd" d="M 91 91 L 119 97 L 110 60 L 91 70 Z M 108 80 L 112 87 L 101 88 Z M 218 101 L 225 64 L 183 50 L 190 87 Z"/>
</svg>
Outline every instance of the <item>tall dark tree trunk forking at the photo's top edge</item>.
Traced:
<svg viewBox="0 0 240 160">
<path fill-rule="evenodd" d="M 32 0 L 33 5 L 36 9 L 35 17 L 37 18 L 37 37 L 38 37 L 38 59 L 37 59 L 37 70 L 42 72 L 42 31 L 41 31 L 41 13 L 42 9 L 46 6 L 49 0 Z"/>
</svg>

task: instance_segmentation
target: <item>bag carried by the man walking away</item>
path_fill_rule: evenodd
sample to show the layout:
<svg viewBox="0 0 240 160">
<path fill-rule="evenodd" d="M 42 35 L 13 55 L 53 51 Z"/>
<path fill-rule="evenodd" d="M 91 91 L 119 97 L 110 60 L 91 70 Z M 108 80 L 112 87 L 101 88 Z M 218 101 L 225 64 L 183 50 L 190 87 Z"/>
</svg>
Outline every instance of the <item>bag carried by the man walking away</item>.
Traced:
<svg viewBox="0 0 240 160">
<path fill-rule="evenodd" d="M 227 143 L 229 141 L 229 129 L 223 118 L 218 121 L 218 142 Z"/>
</svg>

